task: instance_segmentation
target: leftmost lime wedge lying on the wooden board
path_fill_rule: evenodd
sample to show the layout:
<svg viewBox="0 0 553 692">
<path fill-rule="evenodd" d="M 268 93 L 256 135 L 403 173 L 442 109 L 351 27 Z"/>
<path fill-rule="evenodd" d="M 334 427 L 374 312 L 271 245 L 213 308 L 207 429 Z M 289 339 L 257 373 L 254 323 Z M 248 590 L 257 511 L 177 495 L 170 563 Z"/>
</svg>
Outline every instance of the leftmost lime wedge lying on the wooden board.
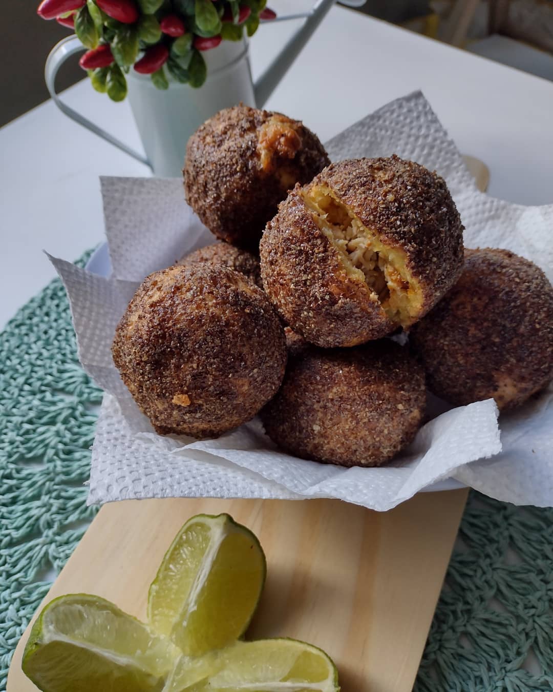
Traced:
<svg viewBox="0 0 553 692">
<path fill-rule="evenodd" d="M 159 692 L 179 655 L 113 603 L 72 594 L 42 610 L 21 668 L 44 692 Z"/>
</svg>

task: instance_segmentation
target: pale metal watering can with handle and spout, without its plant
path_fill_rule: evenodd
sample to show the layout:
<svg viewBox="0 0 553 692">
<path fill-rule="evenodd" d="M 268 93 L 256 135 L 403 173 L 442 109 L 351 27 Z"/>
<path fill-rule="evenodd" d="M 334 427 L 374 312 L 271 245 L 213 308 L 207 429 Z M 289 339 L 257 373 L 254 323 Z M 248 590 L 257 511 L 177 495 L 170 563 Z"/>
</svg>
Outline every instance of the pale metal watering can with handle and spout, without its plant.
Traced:
<svg viewBox="0 0 553 692">
<path fill-rule="evenodd" d="M 196 129 L 222 108 L 243 102 L 263 107 L 272 91 L 290 69 L 303 46 L 336 0 L 317 0 L 310 12 L 277 17 L 272 21 L 303 18 L 305 21 L 283 47 L 274 62 L 257 82 L 252 81 L 248 42 L 225 41 L 205 54 L 207 80 L 200 89 L 172 80 L 167 91 L 159 91 L 149 75 L 131 70 L 128 79 L 128 98 L 133 111 L 144 154 L 106 132 L 64 103 L 55 91 L 59 67 L 69 57 L 83 51 L 76 36 L 60 41 L 48 55 L 45 67 L 46 86 L 55 104 L 66 116 L 91 130 L 104 140 L 148 165 L 160 177 L 180 176 L 185 160 L 188 138 Z M 352 7 L 364 5 L 365 0 L 346 0 Z"/>
</svg>

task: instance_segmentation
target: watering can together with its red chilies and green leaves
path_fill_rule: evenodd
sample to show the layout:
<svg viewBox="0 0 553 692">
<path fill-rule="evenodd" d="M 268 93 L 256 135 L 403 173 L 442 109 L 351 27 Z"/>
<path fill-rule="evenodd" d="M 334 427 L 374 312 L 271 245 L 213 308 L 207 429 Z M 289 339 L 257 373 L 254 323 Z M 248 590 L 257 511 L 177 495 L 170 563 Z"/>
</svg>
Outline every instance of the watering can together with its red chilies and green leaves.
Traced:
<svg viewBox="0 0 553 692">
<path fill-rule="evenodd" d="M 317 0 L 258 84 L 252 83 L 248 39 L 276 19 L 266 0 L 43 0 L 37 10 L 75 31 L 46 62 L 46 84 L 71 118 L 147 163 L 178 175 L 190 134 L 216 111 L 244 102 L 262 106 L 335 0 Z M 296 15 L 297 16 L 297 15 Z M 78 51 L 97 91 L 129 96 L 146 156 L 73 111 L 55 93 L 59 66 Z"/>
</svg>

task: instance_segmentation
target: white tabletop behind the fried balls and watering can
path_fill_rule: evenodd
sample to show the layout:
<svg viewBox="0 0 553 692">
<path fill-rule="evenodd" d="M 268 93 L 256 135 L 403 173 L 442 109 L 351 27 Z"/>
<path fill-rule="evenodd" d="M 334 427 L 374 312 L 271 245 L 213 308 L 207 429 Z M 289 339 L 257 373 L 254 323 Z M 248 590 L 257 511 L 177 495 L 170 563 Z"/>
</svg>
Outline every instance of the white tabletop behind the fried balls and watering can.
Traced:
<svg viewBox="0 0 553 692">
<path fill-rule="evenodd" d="M 277 0 L 277 9 L 310 6 Z M 294 22 L 263 26 L 252 40 L 254 76 Z M 327 140 L 387 101 L 422 89 L 462 152 L 485 161 L 490 194 L 553 202 L 553 84 L 353 10 L 333 8 L 267 104 Z M 87 82 L 65 98 L 139 147 L 128 104 Z M 54 276 L 41 253 L 75 259 L 102 240 L 98 176 L 149 174 L 46 102 L 0 129 L 0 328 Z M 6 247 L 7 246 L 7 247 Z"/>
</svg>

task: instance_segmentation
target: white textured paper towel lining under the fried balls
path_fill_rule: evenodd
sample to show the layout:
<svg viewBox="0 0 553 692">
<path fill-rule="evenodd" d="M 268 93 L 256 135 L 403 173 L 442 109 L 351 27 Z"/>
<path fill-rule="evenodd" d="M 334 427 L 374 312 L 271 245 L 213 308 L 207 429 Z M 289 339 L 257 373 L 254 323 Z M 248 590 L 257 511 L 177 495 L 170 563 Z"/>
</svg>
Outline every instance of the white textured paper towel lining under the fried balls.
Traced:
<svg viewBox="0 0 553 692">
<path fill-rule="evenodd" d="M 332 161 L 388 156 L 418 161 L 447 181 L 469 247 L 508 248 L 552 278 L 553 206 L 523 207 L 476 188 L 420 92 L 397 99 L 327 145 Z M 514 174 L 516 168 L 514 169 Z M 339 498 L 384 511 L 453 477 L 500 500 L 553 505 L 553 390 L 500 418 L 493 400 L 448 410 L 382 468 L 341 468 L 281 453 L 258 419 L 214 440 L 156 435 L 111 358 L 115 325 L 145 275 L 213 237 L 177 179 L 102 178 L 111 277 L 51 258 L 66 286 L 86 372 L 106 391 L 92 453 L 89 504 L 130 498 Z"/>
</svg>

